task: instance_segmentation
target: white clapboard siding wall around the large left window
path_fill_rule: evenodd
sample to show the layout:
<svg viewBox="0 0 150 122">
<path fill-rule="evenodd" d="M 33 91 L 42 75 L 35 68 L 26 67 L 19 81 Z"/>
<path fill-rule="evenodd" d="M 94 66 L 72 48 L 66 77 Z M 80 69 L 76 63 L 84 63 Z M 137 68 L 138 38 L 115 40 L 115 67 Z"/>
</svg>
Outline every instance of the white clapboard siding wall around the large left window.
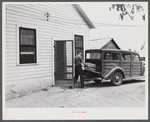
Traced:
<svg viewBox="0 0 150 122">
<path fill-rule="evenodd" d="M 49 21 L 44 13 L 50 12 Z M 5 14 L 5 80 L 6 82 L 49 79 L 53 76 L 52 40 L 73 40 L 84 36 L 88 46 L 89 28 L 71 4 L 8 4 Z M 17 65 L 17 24 L 38 29 L 38 64 Z"/>
</svg>

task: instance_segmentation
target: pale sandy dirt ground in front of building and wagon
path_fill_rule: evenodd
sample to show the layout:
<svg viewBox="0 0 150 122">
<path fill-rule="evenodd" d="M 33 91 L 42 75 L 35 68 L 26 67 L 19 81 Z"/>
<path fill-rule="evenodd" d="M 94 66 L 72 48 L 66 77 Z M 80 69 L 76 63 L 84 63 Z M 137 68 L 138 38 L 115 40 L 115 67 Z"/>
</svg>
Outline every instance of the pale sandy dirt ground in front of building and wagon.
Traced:
<svg viewBox="0 0 150 122">
<path fill-rule="evenodd" d="M 29 95 L 7 100 L 6 107 L 144 107 L 145 81 L 124 81 L 121 86 L 110 82 L 96 84 L 86 82 L 86 89 L 80 84 L 74 89 L 50 87 L 47 91 L 33 92 Z"/>
</svg>

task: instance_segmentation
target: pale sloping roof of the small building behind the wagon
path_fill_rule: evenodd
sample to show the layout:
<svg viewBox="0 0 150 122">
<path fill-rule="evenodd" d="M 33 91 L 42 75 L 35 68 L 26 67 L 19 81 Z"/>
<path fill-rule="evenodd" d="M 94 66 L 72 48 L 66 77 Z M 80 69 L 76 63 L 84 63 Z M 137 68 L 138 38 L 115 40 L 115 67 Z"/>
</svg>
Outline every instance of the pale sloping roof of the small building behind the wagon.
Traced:
<svg viewBox="0 0 150 122">
<path fill-rule="evenodd" d="M 102 39 L 94 39 L 94 40 L 90 40 L 90 45 L 93 45 L 92 48 L 93 49 L 101 49 L 103 48 L 106 44 L 108 44 L 110 41 L 112 41 L 114 43 L 114 45 L 120 49 L 120 47 L 117 45 L 117 43 L 114 41 L 113 38 L 102 38 Z"/>
</svg>

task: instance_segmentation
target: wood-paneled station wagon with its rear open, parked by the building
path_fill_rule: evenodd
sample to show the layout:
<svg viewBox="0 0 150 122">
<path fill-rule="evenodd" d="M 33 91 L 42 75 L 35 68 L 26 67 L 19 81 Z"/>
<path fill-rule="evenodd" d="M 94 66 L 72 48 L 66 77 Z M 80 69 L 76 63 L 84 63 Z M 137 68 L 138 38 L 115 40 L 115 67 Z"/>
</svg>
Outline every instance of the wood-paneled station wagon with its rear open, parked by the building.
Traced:
<svg viewBox="0 0 150 122">
<path fill-rule="evenodd" d="M 92 49 L 85 51 L 84 77 L 100 83 L 111 80 L 115 86 L 123 80 L 143 76 L 145 67 L 138 53 L 117 49 Z"/>
</svg>

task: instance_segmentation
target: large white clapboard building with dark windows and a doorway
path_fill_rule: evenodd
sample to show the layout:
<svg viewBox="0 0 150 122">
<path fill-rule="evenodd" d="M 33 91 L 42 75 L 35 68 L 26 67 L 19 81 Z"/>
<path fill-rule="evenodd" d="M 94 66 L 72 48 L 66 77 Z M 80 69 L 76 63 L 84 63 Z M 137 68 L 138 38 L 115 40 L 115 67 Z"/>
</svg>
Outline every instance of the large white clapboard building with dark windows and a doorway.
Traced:
<svg viewBox="0 0 150 122">
<path fill-rule="evenodd" d="M 59 80 L 62 84 L 71 80 L 73 56 L 78 50 L 84 56 L 89 30 L 94 28 L 76 4 L 4 2 L 3 19 L 3 81 L 7 90 L 18 84 L 47 88 Z"/>
</svg>

